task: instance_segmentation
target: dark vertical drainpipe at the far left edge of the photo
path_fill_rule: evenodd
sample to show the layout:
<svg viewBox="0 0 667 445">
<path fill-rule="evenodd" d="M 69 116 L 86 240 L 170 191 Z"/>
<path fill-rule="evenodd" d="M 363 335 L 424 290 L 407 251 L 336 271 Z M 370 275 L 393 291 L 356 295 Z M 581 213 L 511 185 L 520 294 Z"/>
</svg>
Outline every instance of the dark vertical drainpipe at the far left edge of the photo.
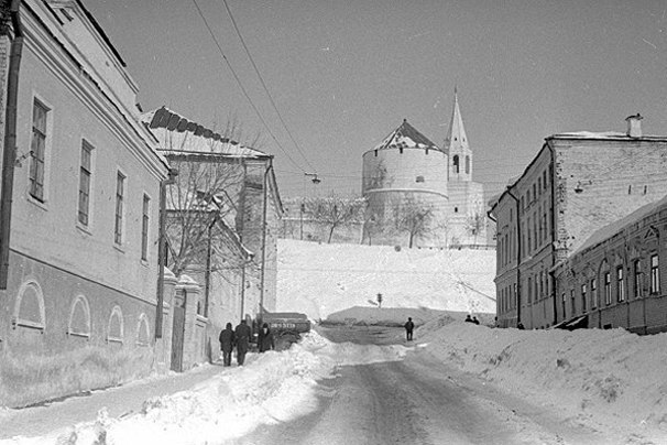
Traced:
<svg viewBox="0 0 667 445">
<path fill-rule="evenodd" d="M 2 193 L 0 195 L 0 289 L 7 289 L 9 275 L 9 242 L 12 219 L 12 195 L 14 187 L 14 163 L 17 162 L 17 104 L 19 96 L 19 72 L 23 52 L 23 30 L 19 8 L 21 0 L 12 0 L 10 14 L 14 29 L 9 56 L 7 80 L 7 109 L 4 122 L 4 148 L 2 152 Z"/>
</svg>

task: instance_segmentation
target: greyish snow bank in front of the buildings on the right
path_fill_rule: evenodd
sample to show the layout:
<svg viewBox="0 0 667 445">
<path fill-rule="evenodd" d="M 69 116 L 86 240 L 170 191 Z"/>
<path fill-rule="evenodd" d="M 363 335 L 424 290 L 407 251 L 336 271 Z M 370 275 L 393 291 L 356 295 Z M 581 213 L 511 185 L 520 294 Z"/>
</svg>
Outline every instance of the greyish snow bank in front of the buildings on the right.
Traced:
<svg viewBox="0 0 667 445">
<path fill-rule="evenodd" d="M 435 319 L 416 335 L 442 361 L 564 410 L 573 423 L 667 443 L 667 334 L 494 329 Z"/>
</svg>

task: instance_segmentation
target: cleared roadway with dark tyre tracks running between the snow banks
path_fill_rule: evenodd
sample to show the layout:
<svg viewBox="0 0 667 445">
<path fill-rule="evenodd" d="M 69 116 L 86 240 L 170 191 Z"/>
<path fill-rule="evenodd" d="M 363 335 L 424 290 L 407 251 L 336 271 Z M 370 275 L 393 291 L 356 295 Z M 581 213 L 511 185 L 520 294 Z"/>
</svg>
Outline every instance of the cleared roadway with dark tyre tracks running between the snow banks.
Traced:
<svg viewBox="0 0 667 445">
<path fill-rule="evenodd" d="M 361 345 L 392 329 L 322 329 Z M 416 341 L 418 343 L 418 341 Z M 389 357 L 387 357 L 389 360 Z M 592 433 L 449 369 L 416 348 L 404 360 L 343 366 L 321 384 L 317 412 L 265 425 L 233 444 L 593 444 Z"/>
</svg>

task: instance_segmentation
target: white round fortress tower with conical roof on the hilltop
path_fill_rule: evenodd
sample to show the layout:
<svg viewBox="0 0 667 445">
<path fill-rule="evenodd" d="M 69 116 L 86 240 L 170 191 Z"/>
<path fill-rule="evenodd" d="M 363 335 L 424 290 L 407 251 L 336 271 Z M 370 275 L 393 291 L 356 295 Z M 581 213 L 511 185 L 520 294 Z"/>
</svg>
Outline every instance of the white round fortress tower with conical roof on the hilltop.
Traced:
<svg viewBox="0 0 667 445">
<path fill-rule="evenodd" d="M 369 204 L 363 242 L 445 246 L 438 228 L 448 210 L 447 153 L 403 120 L 362 159 L 361 193 Z"/>
</svg>

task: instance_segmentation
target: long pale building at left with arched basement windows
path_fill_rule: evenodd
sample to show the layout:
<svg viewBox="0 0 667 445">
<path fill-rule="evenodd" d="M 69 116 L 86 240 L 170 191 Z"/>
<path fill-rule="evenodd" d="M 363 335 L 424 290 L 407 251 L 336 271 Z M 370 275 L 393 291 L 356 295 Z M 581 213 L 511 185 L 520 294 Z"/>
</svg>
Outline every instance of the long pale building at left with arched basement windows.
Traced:
<svg viewBox="0 0 667 445">
<path fill-rule="evenodd" d="M 168 172 L 139 122 L 136 85 L 81 2 L 19 3 L 0 36 L 0 403 L 10 406 L 118 384 L 160 361 Z"/>
</svg>

